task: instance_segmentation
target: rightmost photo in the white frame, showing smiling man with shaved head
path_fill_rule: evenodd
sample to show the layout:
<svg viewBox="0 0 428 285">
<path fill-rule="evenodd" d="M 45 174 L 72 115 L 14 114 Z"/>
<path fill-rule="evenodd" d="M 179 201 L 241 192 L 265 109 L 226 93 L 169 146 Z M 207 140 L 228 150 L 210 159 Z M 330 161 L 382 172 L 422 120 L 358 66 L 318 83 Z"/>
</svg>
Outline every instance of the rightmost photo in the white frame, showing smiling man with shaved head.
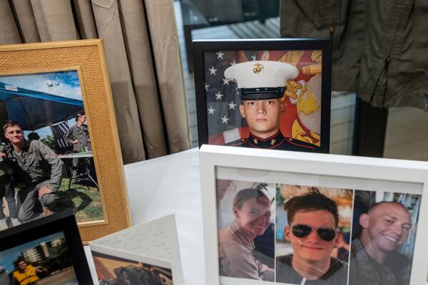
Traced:
<svg viewBox="0 0 428 285">
<path fill-rule="evenodd" d="M 420 195 L 356 191 L 350 285 L 409 285 Z"/>
</svg>

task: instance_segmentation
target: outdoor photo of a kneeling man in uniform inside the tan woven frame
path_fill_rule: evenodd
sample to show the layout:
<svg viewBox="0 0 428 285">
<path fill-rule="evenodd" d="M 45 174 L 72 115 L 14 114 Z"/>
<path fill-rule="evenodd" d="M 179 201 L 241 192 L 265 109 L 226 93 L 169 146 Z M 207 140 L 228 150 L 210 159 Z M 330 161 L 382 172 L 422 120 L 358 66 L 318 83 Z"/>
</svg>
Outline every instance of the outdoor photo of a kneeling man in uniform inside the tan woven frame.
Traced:
<svg viewBox="0 0 428 285">
<path fill-rule="evenodd" d="M 68 208 L 103 219 L 76 71 L 0 81 L 0 230 Z"/>
</svg>

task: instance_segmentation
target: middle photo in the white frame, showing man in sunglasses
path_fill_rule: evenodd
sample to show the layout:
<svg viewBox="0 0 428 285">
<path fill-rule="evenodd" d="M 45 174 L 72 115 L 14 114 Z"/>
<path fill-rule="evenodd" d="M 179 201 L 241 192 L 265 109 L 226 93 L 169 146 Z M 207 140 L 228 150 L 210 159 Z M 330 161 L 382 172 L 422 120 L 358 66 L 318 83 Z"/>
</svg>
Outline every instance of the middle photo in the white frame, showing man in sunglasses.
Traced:
<svg viewBox="0 0 428 285">
<path fill-rule="evenodd" d="M 282 185 L 278 194 L 285 197 L 283 209 L 287 225 L 283 228 L 286 244 L 280 244 L 282 215 L 277 214 L 276 280 L 287 284 L 347 284 L 347 249 L 344 233 L 349 230 L 352 190 Z M 290 192 L 292 195 L 290 195 Z M 338 207 L 337 202 L 340 203 Z M 279 212 L 279 211 L 278 211 Z M 343 214 L 340 222 L 340 214 Z M 346 222 L 345 222 L 346 221 Z M 346 234 L 345 234 L 346 236 Z M 288 246 L 288 244 L 290 244 Z M 283 248 L 283 249 L 282 249 Z M 342 250 L 338 254 L 337 249 Z M 290 253 L 280 255 L 280 252 Z M 345 252 L 345 254 L 343 254 Z M 345 260 L 343 260 L 345 259 Z"/>
</svg>

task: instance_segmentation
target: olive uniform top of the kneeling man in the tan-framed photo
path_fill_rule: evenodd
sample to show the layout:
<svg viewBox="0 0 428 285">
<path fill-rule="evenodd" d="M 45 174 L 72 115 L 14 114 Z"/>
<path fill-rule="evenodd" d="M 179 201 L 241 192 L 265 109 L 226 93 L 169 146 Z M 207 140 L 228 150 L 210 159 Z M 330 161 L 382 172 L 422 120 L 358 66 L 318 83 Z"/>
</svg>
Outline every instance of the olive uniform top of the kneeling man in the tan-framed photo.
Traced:
<svg viewBox="0 0 428 285">
<path fill-rule="evenodd" d="M 63 162 L 48 146 L 39 140 L 26 140 L 21 158 L 11 145 L 0 147 L 14 166 L 16 183 L 36 185 L 48 181 L 53 191 L 61 185 Z"/>
</svg>

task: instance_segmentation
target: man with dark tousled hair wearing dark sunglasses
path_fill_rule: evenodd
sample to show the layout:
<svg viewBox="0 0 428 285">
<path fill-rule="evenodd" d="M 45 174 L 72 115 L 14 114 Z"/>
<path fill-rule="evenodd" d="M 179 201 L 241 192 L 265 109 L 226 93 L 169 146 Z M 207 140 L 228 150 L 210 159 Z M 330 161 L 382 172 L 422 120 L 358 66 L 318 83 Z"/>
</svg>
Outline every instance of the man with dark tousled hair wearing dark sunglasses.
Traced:
<svg viewBox="0 0 428 285">
<path fill-rule="evenodd" d="M 336 203 L 318 190 L 292 197 L 284 205 L 289 227 L 285 239 L 293 254 L 277 257 L 276 281 L 290 284 L 343 285 L 347 264 L 331 257 L 339 242 Z"/>
</svg>

